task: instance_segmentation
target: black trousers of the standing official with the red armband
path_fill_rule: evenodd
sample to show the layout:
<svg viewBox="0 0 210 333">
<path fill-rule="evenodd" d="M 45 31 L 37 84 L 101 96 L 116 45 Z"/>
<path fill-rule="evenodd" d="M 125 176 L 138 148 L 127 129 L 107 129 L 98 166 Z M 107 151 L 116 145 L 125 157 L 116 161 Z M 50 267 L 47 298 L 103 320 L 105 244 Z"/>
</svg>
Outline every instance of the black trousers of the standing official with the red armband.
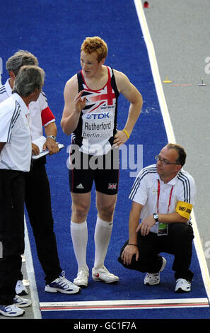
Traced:
<svg viewBox="0 0 210 333">
<path fill-rule="evenodd" d="M 25 206 L 46 285 L 62 273 L 54 234 L 49 180 L 44 164 L 37 164 L 26 177 Z"/>
</svg>

